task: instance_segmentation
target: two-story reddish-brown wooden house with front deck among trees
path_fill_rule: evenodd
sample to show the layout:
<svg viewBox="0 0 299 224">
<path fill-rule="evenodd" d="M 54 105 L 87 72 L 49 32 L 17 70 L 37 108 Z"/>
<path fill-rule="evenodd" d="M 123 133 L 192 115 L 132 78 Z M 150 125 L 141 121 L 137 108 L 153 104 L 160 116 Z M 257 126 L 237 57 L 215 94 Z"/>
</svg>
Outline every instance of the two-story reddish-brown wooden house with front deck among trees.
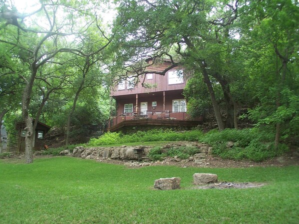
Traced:
<svg viewBox="0 0 299 224">
<path fill-rule="evenodd" d="M 161 72 L 170 65 L 170 61 L 164 59 L 163 63 L 148 66 L 146 71 Z M 182 67 L 170 69 L 165 75 L 147 73 L 139 80 L 144 80 L 145 87 L 140 82 L 133 85 L 133 79 L 128 78 L 111 90 L 117 115 L 111 119 L 110 131 L 145 125 L 191 127 L 201 122 L 201 118 L 192 119 L 186 113 L 187 102 L 182 94 L 186 75 Z"/>
</svg>

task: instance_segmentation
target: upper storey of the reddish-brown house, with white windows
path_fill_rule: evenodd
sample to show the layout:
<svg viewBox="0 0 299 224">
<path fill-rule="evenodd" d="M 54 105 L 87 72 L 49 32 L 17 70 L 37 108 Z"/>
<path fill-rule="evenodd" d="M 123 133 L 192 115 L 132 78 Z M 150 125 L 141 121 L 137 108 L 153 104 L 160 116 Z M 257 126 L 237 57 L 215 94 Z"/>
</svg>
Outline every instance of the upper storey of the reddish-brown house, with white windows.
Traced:
<svg viewBox="0 0 299 224">
<path fill-rule="evenodd" d="M 164 61 L 160 64 L 153 64 L 147 67 L 146 71 L 161 72 L 171 65 Z M 143 86 L 142 83 L 143 82 Z M 186 85 L 186 77 L 181 67 L 175 67 L 165 73 L 165 75 L 148 73 L 139 77 L 139 82 L 134 85 L 134 78 L 121 80 L 118 85 L 111 90 L 111 96 L 122 96 L 130 94 L 151 93 L 168 90 L 183 89 Z"/>
</svg>

